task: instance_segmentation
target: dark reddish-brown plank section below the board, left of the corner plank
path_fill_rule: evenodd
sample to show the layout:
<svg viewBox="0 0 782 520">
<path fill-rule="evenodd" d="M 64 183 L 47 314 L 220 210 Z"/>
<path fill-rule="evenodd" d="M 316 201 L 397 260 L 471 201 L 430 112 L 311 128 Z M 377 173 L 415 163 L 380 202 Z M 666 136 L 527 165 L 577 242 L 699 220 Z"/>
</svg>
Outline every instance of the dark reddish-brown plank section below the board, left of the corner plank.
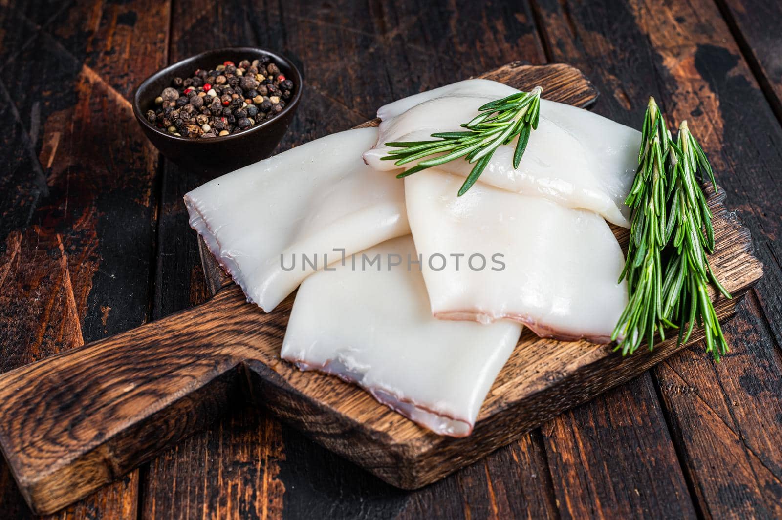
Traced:
<svg viewBox="0 0 782 520">
<path fill-rule="evenodd" d="M 542 430 L 561 518 L 696 518 L 647 373 Z"/>
</svg>

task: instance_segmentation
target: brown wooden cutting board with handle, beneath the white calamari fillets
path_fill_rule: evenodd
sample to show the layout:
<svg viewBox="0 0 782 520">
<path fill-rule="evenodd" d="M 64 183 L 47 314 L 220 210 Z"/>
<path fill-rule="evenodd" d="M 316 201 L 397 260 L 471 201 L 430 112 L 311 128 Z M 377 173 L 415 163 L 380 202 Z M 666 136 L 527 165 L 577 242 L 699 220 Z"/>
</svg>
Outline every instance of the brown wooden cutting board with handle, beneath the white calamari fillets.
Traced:
<svg viewBox="0 0 782 520">
<path fill-rule="evenodd" d="M 582 107 L 597 98 L 582 73 L 561 64 L 511 63 L 482 77 L 524 90 L 540 84 L 544 98 Z M 734 294 L 716 301 L 726 319 L 762 276 L 762 265 L 723 197 L 712 192 L 709 204 L 717 243 L 709 260 Z M 615 233 L 626 244 L 626 230 Z M 684 347 L 669 340 L 623 359 L 605 345 L 543 340 L 526 330 L 472 436 L 442 437 L 357 386 L 283 362 L 292 297 L 264 314 L 203 247 L 202 258 L 214 294 L 205 304 L 0 376 L 0 447 L 34 511 L 49 513 L 84 497 L 246 397 L 386 482 L 418 488 Z M 701 337 L 698 330 L 691 343 Z"/>
</svg>

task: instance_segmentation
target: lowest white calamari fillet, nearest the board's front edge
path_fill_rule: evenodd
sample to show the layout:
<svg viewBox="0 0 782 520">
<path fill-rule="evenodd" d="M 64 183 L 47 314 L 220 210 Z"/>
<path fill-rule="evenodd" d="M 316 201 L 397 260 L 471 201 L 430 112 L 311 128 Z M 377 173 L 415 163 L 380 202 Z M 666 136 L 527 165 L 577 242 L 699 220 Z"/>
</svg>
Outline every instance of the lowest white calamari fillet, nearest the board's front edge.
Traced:
<svg viewBox="0 0 782 520">
<path fill-rule="evenodd" d="M 435 319 L 421 272 L 407 269 L 411 237 L 304 280 L 282 344 L 282 358 L 357 383 L 382 404 L 440 435 L 467 436 L 521 326 Z M 389 257 L 389 255 L 392 255 Z M 389 261 L 390 258 L 390 261 Z M 400 262 L 400 265 L 391 265 Z M 377 265 L 379 265 L 379 270 Z M 331 267 L 329 269 L 332 269 Z"/>
</svg>

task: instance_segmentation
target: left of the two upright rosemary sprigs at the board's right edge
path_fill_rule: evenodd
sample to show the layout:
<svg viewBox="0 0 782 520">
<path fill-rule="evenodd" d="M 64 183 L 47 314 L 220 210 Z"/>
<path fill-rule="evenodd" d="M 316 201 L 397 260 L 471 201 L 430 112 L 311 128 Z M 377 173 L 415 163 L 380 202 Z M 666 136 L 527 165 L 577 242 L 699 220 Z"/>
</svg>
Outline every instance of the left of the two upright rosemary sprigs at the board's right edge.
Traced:
<svg viewBox="0 0 782 520">
<path fill-rule="evenodd" d="M 670 151 L 669 141 L 665 118 L 655 98 L 649 98 L 641 131 L 638 169 L 625 200 L 632 210 L 630 246 L 619 282 L 627 279 L 630 301 L 611 337 L 615 341 L 622 336 L 615 350 L 621 350 L 623 355 L 636 351 L 644 339 L 653 345 L 655 333 L 665 338 L 665 326 L 675 326 L 662 312 L 661 254 L 670 236 L 670 230 L 665 229 L 668 194 L 665 160 Z"/>
</svg>

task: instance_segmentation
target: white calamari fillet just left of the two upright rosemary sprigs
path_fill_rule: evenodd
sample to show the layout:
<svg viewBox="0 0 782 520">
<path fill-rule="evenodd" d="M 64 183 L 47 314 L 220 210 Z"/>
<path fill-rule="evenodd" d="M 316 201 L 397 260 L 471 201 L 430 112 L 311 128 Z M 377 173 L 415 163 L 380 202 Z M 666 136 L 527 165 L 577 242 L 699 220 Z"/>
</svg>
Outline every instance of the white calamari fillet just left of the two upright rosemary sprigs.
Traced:
<svg viewBox="0 0 782 520">
<path fill-rule="evenodd" d="M 604 219 L 481 183 L 457 197 L 463 180 L 429 169 L 404 181 L 433 315 L 512 319 L 540 337 L 608 343 L 627 288 Z M 472 255 L 486 259 L 483 269 Z"/>
</svg>

